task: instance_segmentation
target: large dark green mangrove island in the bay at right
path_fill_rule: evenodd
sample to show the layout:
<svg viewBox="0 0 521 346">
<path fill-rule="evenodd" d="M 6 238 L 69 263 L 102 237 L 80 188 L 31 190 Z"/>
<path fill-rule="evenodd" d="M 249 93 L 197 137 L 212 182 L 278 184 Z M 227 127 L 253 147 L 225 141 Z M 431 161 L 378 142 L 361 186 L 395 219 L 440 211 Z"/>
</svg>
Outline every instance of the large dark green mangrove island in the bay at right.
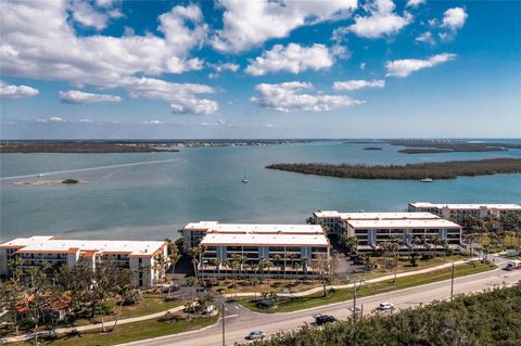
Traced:
<svg viewBox="0 0 521 346">
<path fill-rule="evenodd" d="M 521 174 L 521 158 L 491 158 L 479 161 L 449 161 L 443 163 L 407 165 L 331 165 L 331 164 L 272 164 L 268 169 L 305 175 L 352 179 L 420 180 L 455 179 L 457 177 Z"/>
</svg>

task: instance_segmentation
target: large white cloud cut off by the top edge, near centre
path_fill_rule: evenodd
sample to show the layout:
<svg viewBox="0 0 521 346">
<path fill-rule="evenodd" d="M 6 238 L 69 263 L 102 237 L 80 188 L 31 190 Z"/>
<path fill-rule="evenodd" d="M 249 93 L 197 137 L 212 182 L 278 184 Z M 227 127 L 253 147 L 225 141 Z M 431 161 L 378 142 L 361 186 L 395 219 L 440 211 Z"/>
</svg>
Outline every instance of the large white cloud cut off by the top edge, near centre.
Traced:
<svg viewBox="0 0 521 346">
<path fill-rule="evenodd" d="M 225 11 L 224 27 L 216 31 L 212 46 L 237 53 L 271 38 L 287 37 L 300 26 L 345 18 L 356 9 L 357 1 L 220 0 L 218 4 Z"/>
</svg>

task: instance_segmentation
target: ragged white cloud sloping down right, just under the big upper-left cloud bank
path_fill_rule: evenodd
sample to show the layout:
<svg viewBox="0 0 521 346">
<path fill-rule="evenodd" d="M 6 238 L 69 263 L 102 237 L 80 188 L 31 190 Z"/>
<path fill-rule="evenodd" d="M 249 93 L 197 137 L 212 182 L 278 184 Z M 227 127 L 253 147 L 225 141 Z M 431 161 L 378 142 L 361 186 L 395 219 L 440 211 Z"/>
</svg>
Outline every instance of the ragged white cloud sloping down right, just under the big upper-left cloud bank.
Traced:
<svg viewBox="0 0 521 346">
<path fill-rule="evenodd" d="M 212 87 L 198 84 L 175 84 L 155 78 L 128 78 L 123 81 L 131 98 L 163 100 L 170 104 L 175 114 L 211 115 L 218 112 L 218 104 L 207 99 L 198 99 L 195 94 L 213 93 Z"/>
</svg>

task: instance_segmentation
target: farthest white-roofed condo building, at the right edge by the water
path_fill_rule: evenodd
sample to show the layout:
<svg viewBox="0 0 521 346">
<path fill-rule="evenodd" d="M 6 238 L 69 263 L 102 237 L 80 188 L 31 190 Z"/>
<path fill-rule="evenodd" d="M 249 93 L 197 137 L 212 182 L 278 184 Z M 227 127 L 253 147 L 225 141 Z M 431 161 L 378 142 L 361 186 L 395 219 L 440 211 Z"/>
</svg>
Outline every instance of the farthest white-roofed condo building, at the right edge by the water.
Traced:
<svg viewBox="0 0 521 346">
<path fill-rule="evenodd" d="M 432 213 L 446 220 L 467 227 L 469 216 L 485 218 L 506 215 L 521 216 L 521 206 L 517 204 L 434 204 L 429 202 L 409 203 L 409 212 Z"/>
</svg>

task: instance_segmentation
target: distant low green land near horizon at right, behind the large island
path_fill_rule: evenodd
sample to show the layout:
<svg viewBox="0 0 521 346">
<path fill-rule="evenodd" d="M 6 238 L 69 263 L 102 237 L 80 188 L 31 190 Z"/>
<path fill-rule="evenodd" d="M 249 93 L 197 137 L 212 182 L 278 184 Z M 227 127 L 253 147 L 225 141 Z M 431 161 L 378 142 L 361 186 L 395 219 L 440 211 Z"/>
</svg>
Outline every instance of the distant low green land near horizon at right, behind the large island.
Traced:
<svg viewBox="0 0 521 346">
<path fill-rule="evenodd" d="M 440 140 L 391 140 L 392 145 L 405 146 L 398 150 L 403 154 L 433 154 L 454 152 L 505 152 L 521 149 L 521 143 L 466 142 Z"/>
</svg>

